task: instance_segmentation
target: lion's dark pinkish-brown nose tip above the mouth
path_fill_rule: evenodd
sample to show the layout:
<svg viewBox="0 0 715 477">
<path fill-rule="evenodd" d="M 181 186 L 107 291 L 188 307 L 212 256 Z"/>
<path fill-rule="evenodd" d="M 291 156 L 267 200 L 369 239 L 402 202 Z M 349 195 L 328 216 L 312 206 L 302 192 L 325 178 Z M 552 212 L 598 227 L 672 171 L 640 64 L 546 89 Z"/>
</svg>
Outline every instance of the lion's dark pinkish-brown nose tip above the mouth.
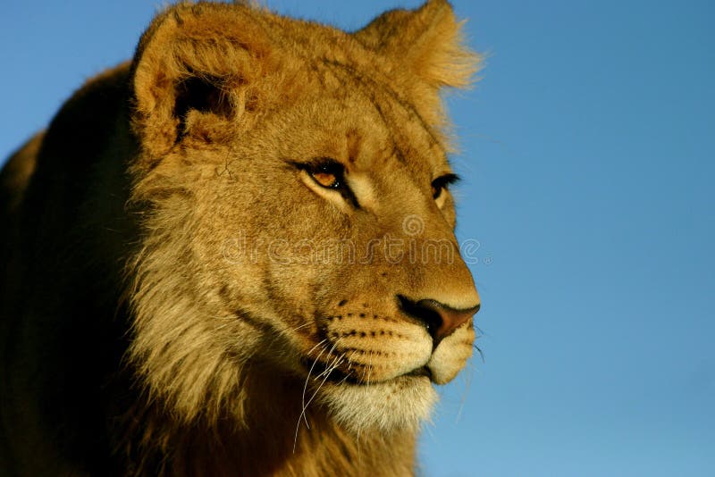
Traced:
<svg viewBox="0 0 715 477">
<path fill-rule="evenodd" d="M 398 297 L 398 301 L 402 311 L 427 326 L 427 331 L 432 336 L 435 347 L 442 339 L 450 336 L 459 326 L 474 316 L 480 306 L 477 304 L 471 308 L 457 309 L 437 300 L 413 301 L 402 296 Z"/>
</svg>

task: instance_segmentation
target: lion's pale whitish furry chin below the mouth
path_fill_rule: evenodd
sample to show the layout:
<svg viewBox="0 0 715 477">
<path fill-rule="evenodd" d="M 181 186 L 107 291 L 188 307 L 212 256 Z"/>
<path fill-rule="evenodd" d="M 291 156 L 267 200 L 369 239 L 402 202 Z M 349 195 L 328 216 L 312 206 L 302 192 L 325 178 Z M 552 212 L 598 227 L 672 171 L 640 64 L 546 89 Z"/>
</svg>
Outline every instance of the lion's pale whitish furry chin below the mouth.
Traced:
<svg viewBox="0 0 715 477">
<path fill-rule="evenodd" d="M 416 431 L 437 401 L 429 377 L 404 375 L 374 384 L 326 383 L 321 402 L 349 432 Z"/>
</svg>

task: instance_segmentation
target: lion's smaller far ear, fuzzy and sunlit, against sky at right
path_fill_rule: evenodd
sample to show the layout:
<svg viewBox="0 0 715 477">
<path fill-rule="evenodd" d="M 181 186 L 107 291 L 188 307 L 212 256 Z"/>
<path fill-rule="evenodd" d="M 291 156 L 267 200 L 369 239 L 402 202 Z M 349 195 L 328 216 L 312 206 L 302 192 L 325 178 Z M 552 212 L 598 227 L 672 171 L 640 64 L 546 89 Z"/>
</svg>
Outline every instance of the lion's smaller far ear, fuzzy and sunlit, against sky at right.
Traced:
<svg viewBox="0 0 715 477">
<path fill-rule="evenodd" d="M 414 11 L 383 13 L 355 36 L 433 88 L 464 88 L 478 70 L 479 56 L 462 44 L 460 26 L 446 0 L 429 0 Z"/>
</svg>

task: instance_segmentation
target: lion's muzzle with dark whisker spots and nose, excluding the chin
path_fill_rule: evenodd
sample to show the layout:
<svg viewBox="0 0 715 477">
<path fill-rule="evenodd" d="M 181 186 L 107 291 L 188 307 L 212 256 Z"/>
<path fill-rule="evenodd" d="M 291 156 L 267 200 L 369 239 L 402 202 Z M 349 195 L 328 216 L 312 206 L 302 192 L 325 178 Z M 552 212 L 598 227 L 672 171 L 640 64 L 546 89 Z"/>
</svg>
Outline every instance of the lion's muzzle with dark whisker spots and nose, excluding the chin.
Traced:
<svg viewBox="0 0 715 477">
<path fill-rule="evenodd" d="M 400 295 L 372 303 L 358 297 L 341 300 L 318 320 L 308 362 L 324 364 L 323 376 L 353 383 L 391 381 L 416 370 L 427 371 L 435 383 L 450 381 L 472 354 L 471 319 L 479 309 L 475 298 L 475 305 L 464 308 Z"/>
</svg>

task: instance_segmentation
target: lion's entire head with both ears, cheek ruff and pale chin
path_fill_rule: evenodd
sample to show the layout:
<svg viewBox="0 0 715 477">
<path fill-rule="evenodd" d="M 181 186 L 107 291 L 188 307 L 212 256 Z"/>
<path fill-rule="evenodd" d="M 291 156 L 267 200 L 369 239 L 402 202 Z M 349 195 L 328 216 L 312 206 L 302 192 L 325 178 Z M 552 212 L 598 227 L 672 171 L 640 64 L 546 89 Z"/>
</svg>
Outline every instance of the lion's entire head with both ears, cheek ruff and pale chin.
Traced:
<svg viewBox="0 0 715 477">
<path fill-rule="evenodd" d="M 240 423 L 261 369 L 349 430 L 427 416 L 475 339 L 440 102 L 475 64 L 443 1 L 352 34 L 242 4 L 152 23 L 129 292 L 150 393 Z"/>
</svg>

